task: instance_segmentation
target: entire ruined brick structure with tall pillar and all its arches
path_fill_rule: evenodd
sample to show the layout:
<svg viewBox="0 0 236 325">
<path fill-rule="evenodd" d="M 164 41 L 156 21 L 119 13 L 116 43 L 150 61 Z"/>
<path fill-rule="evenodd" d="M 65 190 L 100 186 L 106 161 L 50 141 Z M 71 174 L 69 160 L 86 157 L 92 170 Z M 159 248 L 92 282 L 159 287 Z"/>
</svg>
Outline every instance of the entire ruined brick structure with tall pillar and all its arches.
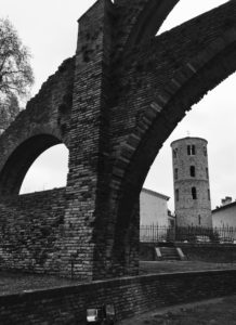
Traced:
<svg viewBox="0 0 236 325">
<path fill-rule="evenodd" d="M 0 265 L 97 280 L 137 273 L 139 193 L 186 110 L 236 69 L 236 1 L 155 36 L 178 0 L 99 0 L 75 57 L 0 138 Z M 18 196 L 69 150 L 65 188 Z"/>
</svg>

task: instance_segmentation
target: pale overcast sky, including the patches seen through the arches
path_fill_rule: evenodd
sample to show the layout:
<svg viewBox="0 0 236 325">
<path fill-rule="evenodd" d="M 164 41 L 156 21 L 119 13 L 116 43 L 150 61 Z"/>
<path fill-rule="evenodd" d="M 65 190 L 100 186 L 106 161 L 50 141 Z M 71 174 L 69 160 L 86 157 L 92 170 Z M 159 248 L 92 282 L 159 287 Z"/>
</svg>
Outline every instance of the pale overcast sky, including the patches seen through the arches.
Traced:
<svg viewBox="0 0 236 325">
<path fill-rule="evenodd" d="M 127 0 L 132 1 L 132 0 Z M 0 16 L 9 17 L 32 54 L 36 83 L 55 73 L 58 65 L 73 56 L 77 43 L 77 20 L 94 0 L 0 0 Z M 165 22 L 161 31 L 170 29 L 198 14 L 226 2 L 225 0 L 181 0 Z M 172 156 L 170 143 L 187 136 L 208 140 L 209 173 L 212 208 L 224 196 L 236 198 L 236 75 L 231 76 L 201 102 L 195 105 L 165 143 L 145 182 L 145 187 L 171 197 L 173 210 Z M 28 172 L 22 192 L 64 186 L 67 171 L 67 150 L 54 146 L 51 155 L 42 154 Z M 43 157 L 44 156 L 44 157 Z"/>
</svg>

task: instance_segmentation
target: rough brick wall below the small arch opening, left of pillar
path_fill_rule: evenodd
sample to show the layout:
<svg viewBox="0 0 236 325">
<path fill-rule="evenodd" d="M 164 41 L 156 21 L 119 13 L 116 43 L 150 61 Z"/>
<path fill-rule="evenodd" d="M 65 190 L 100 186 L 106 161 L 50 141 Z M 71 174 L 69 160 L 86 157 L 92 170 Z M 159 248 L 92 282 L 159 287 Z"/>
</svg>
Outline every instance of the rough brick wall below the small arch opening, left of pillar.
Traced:
<svg viewBox="0 0 236 325">
<path fill-rule="evenodd" d="M 65 188 L 0 202 L 0 268 L 60 274 Z"/>
</svg>

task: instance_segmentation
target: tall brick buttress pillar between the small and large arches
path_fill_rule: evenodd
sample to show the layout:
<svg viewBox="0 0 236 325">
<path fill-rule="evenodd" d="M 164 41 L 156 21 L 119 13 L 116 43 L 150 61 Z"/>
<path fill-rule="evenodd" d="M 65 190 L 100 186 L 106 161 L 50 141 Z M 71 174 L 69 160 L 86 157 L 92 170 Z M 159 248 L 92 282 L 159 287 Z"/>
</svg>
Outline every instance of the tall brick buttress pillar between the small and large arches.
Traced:
<svg viewBox="0 0 236 325">
<path fill-rule="evenodd" d="M 103 277 L 106 273 L 103 264 L 109 217 L 106 158 L 109 156 L 110 5 L 109 1 L 97 1 L 79 20 L 63 268 L 67 274 L 74 253 L 75 273 L 81 278 L 99 274 Z M 91 260 L 93 263 L 88 262 Z"/>
</svg>

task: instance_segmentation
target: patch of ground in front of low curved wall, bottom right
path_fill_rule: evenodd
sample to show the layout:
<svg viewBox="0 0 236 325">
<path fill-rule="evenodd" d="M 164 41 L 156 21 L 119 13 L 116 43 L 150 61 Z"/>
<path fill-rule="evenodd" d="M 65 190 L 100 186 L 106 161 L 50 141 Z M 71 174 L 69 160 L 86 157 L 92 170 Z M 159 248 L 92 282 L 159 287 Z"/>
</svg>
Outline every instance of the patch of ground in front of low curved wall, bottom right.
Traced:
<svg viewBox="0 0 236 325">
<path fill-rule="evenodd" d="M 236 296 L 156 310 L 117 325 L 236 325 Z"/>
</svg>

